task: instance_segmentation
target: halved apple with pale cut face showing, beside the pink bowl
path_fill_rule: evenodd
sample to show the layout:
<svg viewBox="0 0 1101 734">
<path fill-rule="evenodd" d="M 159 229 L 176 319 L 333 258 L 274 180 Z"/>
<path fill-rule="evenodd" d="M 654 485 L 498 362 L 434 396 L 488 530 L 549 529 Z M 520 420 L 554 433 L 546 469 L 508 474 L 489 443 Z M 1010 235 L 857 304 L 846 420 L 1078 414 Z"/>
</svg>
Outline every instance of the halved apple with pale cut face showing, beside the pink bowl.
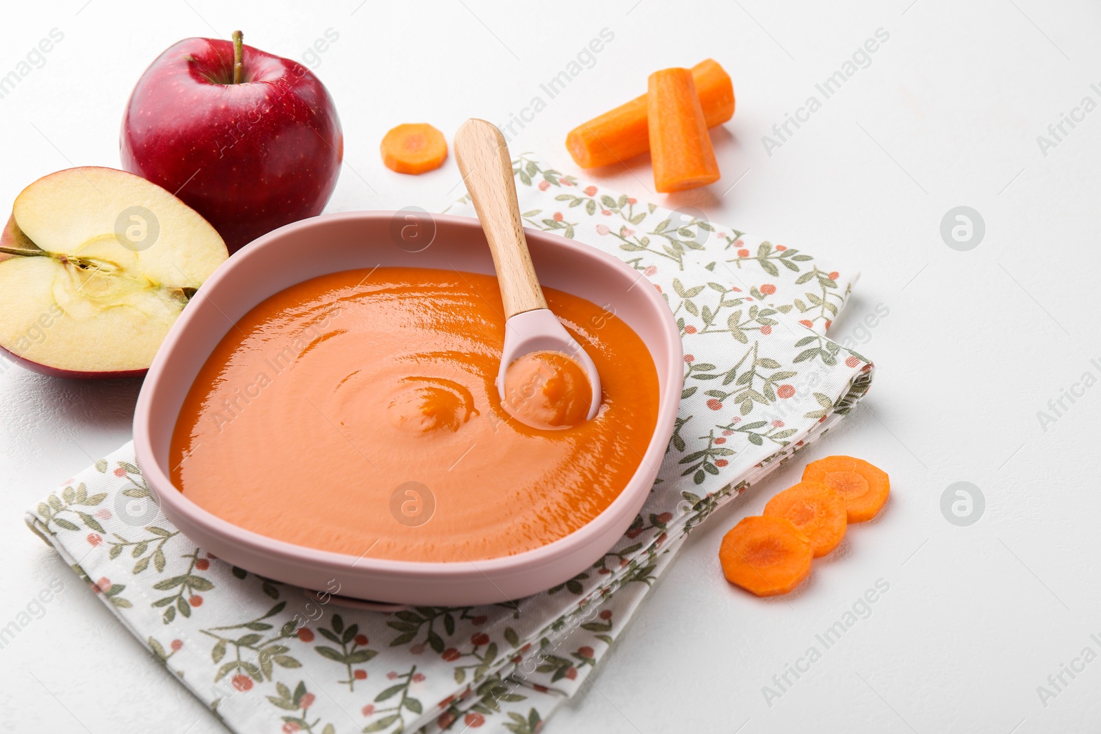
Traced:
<svg viewBox="0 0 1101 734">
<path fill-rule="evenodd" d="M 44 176 L 15 198 L 0 233 L 0 348 L 43 374 L 143 374 L 228 256 L 214 227 L 140 176 Z"/>
</svg>

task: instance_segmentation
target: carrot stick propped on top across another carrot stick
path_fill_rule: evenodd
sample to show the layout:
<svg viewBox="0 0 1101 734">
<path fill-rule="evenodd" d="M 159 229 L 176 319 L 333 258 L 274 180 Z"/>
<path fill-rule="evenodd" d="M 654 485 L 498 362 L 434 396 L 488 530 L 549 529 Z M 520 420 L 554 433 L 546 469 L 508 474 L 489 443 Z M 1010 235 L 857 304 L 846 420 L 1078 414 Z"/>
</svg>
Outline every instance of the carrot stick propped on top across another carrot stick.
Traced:
<svg viewBox="0 0 1101 734">
<path fill-rule="evenodd" d="M 654 187 L 667 194 L 719 180 L 719 164 L 691 72 L 684 68 L 654 72 L 646 96 Z"/>
</svg>

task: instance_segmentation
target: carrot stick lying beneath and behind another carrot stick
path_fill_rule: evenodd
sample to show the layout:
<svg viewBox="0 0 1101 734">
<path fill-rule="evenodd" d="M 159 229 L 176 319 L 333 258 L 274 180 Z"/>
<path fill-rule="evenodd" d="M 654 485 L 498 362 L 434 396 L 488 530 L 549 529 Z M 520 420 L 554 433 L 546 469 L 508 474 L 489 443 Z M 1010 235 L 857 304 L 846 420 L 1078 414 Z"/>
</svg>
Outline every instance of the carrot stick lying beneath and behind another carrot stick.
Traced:
<svg viewBox="0 0 1101 734">
<path fill-rule="evenodd" d="M 730 75 L 713 59 L 691 67 L 707 127 L 722 124 L 734 116 L 734 86 Z M 582 168 L 621 163 L 650 150 L 646 95 L 635 97 L 569 131 L 566 147 Z"/>
</svg>

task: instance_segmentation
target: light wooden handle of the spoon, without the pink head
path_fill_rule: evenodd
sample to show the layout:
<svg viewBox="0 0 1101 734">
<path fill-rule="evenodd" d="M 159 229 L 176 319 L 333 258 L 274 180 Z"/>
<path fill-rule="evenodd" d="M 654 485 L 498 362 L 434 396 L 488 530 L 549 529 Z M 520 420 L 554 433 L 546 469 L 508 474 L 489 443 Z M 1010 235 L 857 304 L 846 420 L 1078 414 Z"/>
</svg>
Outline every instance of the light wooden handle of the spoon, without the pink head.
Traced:
<svg viewBox="0 0 1101 734">
<path fill-rule="evenodd" d="M 512 156 L 504 135 L 492 123 L 471 118 L 455 133 L 455 157 L 489 241 L 504 318 L 546 308 L 524 239 Z"/>
</svg>

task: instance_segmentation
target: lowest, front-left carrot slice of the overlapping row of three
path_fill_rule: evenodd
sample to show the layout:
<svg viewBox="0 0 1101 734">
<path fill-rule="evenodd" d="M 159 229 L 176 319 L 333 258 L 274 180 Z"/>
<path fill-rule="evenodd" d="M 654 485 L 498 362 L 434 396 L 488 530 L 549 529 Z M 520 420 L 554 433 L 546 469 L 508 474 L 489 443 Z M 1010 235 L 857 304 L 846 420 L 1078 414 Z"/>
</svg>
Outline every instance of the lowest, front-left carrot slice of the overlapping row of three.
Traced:
<svg viewBox="0 0 1101 734">
<path fill-rule="evenodd" d="M 727 581 L 757 596 L 786 594 L 810 573 L 810 540 L 783 517 L 745 517 L 719 546 Z"/>
</svg>

